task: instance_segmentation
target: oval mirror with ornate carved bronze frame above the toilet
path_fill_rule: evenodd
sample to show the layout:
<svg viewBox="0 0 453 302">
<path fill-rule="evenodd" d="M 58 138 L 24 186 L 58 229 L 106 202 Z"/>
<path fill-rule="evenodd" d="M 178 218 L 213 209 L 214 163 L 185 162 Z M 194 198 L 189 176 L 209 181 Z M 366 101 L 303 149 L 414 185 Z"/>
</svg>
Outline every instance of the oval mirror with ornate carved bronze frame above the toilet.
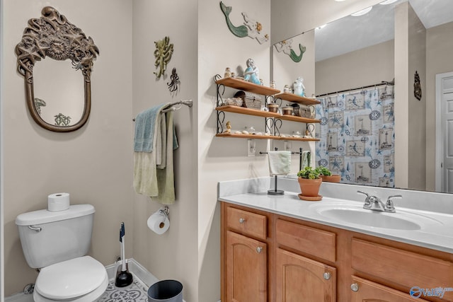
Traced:
<svg viewBox="0 0 453 302">
<path fill-rule="evenodd" d="M 91 37 L 87 38 L 80 28 L 69 23 L 67 18 L 55 8 L 46 6 L 42 8 L 41 13 L 41 18 L 28 21 L 22 40 L 16 45 L 18 71 L 25 80 L 25 100 L 30 115 L 41 127 L 54 132 L 71 132 L 84 126 L 90 115 L 91 69 L 99 50 Z M 35 97 L 33 68 L 35 62 L 45 57 L 59 62 L 50 62 L 52 63 L 48 64 L 50 68 L 40 71 L 40 74 L 49 76 L 50 83 L 46 79 L 40 79 L 39 93 L 45 96 L 41 94 Z M 82 94 L 82 89 L 77 89 L 80 84 L 74 84 L 71 80 L 73 75 L 68 81 L 68 78 L 59 70 L 62 66 L 57 65 L 66 59 L 70 59 L 72 69 L 80 69 L 84 77 L 83 102 L 75 100 L 77 95 Z M 40 66 L 40 69 L 41 67 L 44 66 Z M 64 80 L 58 83 L 57 80 L 61 79 Z M 41 84 L 42 82 L 45 84 Z M 74 86 L 68 87 L 68 83 Z M 57 97 L 51 98 L 45 93 L 49 91 L 55 91 Z"/>
</svg>

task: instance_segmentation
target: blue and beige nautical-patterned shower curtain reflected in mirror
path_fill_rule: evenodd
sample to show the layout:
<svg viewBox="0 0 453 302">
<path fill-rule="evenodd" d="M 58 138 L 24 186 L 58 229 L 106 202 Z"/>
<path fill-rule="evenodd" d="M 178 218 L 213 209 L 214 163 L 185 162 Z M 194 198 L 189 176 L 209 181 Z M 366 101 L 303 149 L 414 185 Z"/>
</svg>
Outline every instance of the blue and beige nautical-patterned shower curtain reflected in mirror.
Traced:
<svg viewBox="0 0 453 302">
<path fill-rule="evenodd" d="M 342 183 L 394 187 L 394 86 L 318 98 L 316 162 Z"/>
</svg>

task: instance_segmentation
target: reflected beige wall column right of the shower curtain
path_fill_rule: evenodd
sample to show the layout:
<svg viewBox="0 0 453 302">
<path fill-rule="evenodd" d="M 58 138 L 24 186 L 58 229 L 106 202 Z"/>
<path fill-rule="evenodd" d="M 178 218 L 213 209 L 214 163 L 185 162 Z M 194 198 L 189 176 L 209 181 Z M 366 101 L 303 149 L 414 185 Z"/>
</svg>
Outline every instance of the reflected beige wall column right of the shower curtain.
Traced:
<svg viewBox="0 0 453 302">
<path fill-rule="evenodd" d="M 413 83 L 415 71 L 426 83 L 426 30 L 408 2 L 395 14 L 395 186 L 425 190 L 425 96 L 415 98 Z"/>
</svg>

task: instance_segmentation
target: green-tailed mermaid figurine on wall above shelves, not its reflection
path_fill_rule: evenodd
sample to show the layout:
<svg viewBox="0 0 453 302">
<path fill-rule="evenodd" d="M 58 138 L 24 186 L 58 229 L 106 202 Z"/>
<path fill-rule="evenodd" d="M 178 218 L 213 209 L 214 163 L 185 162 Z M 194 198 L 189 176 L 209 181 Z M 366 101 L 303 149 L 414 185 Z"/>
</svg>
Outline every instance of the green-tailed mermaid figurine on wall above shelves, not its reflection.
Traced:
<svg viewBox="0 0 453 302">
<path fill-rule="evenodd" d="M 263 25 L 258 21 L 248 18 L 247 13 L 242 13 L 244 20 L 243 25 L 235 26 L 229 19 L 229 14 L 232 9 L 231 6 L 226 6 L 222 1 L 220 1 L 220 9 L 225 15 L 226 25 L 231 33 L 236 35 L 236 37 L 251 37 L 252 39 L 256 39 L 260 44 L 263 44 L 263 42 L 267 42 L 269 40 L 268 34 L 261 33 Z"/>
</svg>

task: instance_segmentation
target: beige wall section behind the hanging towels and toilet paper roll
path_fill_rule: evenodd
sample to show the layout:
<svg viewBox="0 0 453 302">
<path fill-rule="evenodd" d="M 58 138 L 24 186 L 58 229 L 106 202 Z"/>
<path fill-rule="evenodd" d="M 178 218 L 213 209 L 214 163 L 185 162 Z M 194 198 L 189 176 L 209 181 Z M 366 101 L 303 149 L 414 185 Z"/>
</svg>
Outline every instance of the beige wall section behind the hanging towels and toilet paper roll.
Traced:
<svg viewBox="0 0 453 302">
<path fill-rule="evenodd" d="M 185 301 L 202 301 L 198 298 L 196 239 L 197 1 L 134 0 L 132 3 L 133 116 L 159 103 L 194 101 L 193 108 L 184 106 L 174 112 L 179 148 L 173 153 L 176 203 L 169 206 L 170 229 L 160 236 L 150 231 L 147 219 L 161 204 L 134 193 L 134 258 L 159 279 L 178 279 L 184 286 Z M 156 79 L 154 41 L 165 36 L 173 43 L 173 55 L 165 76 Z M 172 97 L 166 83 L 173 67 L 180 79 L 180 91 Z M 132 123 L 132 117 L 129 122 Z"/>
</svg>

